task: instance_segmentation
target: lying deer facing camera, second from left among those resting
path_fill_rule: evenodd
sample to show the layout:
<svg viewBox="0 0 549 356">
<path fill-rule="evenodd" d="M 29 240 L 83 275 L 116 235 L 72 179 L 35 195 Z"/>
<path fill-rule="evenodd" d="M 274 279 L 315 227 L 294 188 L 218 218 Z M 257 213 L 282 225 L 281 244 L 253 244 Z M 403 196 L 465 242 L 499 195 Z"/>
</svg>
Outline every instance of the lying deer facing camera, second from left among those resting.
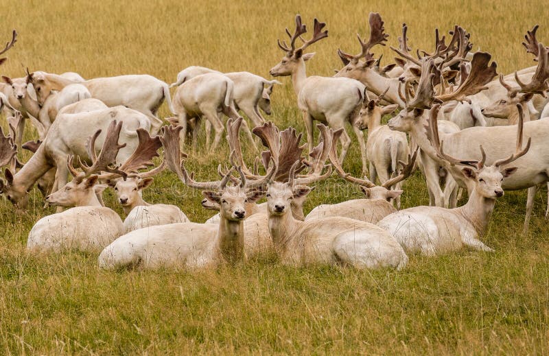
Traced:
<svg viewBox="0 0 549 356">
<path fill-rule="evenodd" d="M 139 134 L 139 147 L 143 147 L 143 150 L 156 152 L 162 146 L 160 137 L 150 138 L 148 132 L 144 130 L 138 130 L 137 133 Z M 134 152 L 132 157 L 119 167 L 121 171 L 128 173 L 127 177 L 108 180 L 108 185 L 115 190 L 117 200 L 126 214 L 124 233 L 148 226 L 189 222 L 187 215 L 175 205 L 149 204 L 143 200 L 143 189 L 152 184 L 152 177 L 163 171 L 165 162 L 162 161 L 161 165 L 150 171 L 135 173 L 134 171 L 137 169 L 152 164 L 138 161 L 142 166 L 137 167 L 134 156 L 140 154 L 142 153 Z M 148 154 L 147 158 L 152 158 L 152 156 L 158 156 L 158 154 Z"/>
</svg>

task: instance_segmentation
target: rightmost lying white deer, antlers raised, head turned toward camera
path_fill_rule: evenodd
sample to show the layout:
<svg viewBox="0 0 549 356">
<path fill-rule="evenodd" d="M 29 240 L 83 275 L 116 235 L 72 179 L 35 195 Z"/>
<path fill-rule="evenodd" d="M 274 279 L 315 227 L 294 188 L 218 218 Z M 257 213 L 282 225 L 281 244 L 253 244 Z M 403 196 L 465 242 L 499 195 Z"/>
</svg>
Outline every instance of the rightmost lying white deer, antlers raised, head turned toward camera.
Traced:
<svg viewBox="0 0 549 356">
<path fill-rule="evenodd" d="M 416 206 L 388 215 L 377 223 L 391 233 L 409 252 L 421 252 L 428 256 L 443 254 L 469 246 L 476 250 L 493 251 L 480 241 L 486 232 L 495 205 L 495 199 L 503 195 L 503 183 L 511 174 L 518 174 L 521 168 L 507 167 L 530 149 L 531 139 L 522 148 L 522 123 L 518 130 L 515 153 L 509 158 L 493 161 L 487 165 L 487 155 L 480 145 L 480 161 L 460 160 L 443 152 L 443 143 L 439 143 L 436 130 L 436 104 L 431 110 L 431 137 L 434 151 L 447 169 L 453 174 L 460 173 L 469 190 L 467 204 L 456 209 L 444 209 L 436 206 Z M 510 142 L 507 141 L 507 144 Z M 472 145 L 472 143 L 469 143 Z M 478 156 L 478 154 L 477 154 Z M 515 173 L 518 172 L 518 173 Z"/>
</svg>

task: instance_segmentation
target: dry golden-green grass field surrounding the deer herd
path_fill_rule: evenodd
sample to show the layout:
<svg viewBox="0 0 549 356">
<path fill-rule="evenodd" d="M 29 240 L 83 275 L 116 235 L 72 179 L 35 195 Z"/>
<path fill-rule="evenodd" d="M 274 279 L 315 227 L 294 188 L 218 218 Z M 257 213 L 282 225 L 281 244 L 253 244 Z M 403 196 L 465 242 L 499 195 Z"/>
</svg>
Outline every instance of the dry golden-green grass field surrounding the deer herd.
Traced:
<svg viewBox="0 0 549 356">
<path fill-rule="evenodd" d="M 520 43 L 535 23 L 538 38 L 549 43 L 541 1 L 21 0 L 2 4 L 0 38 L 8 40 L 12 28 L 20 36 L 1 71 L 23 76 L 23 65 L 84 78 L 149 73 L 170 83 L 181 69 L 202 65 L 268 78 L 282 56 L 276 40 L 299 12 L 307 25 L 314 16 L 327 22 L 329 38 L 311 47 L 317 54 L 307 70 L 331 75 L 341 66 L 338 47 L 358 52 L 355 33 L 364 34 L 370 11 L 382 14 L 391 45 L 406 22 L 410 45 L 429 51 L 434 27 L 447 31 L 459 23 L 471 32 L 474 49 L 490 51 L 503 73 L 532 65 Z M 384 62 L 393 58 L 388 48 L 375 52 L 385 54 Z M 301 130 L 291 82 L 282 81 L 271 119 Z M 226 151 L 224 143 L 215 154 L 191 155 L 188 166 L 198 178 L 213 178 Z M 356 145 L 345 167 L 360 172 Z M 419 174 L 405 189 L 405 207 L 428 203 Z M 106 195 L 121 213 L 113 192 Z M 318 185 L 306 211 L 357 197 L 357 187 L 331 178 Z M 496 252 L 411 255 L 401 272 L 286 268 L 273 256 L 196 273 L 104 272 L 95 254 L 25 252 L 34 222 L 53 212 L 34 190 L 25 213 L 0 201 L 0 353 L 548 354 L 545 197 L 537 196 L 524 236 L 526 193 L 506 192 L 498 200 L 484 237 Z M 200 207 L 199 193 L 167 172 L 145 199 L 177 204 L 198 222 L 211 215 Z"/>
</svg>

